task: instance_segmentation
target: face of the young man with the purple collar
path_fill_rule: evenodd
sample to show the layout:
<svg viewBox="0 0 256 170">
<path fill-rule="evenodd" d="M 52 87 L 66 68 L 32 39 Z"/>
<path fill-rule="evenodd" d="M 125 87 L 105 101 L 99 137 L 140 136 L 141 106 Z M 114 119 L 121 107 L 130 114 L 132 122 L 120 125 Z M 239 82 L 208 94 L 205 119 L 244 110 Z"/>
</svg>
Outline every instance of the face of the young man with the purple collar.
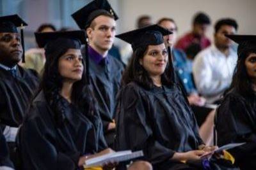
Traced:
<svg viewBox="0 0 256 170">
<path fill-rule="evenodd" d="M 116 22 L 113 18 L 100 15 L 93 20 L 92 27 L 86 29 L 90 45 L 100 53 L 107 52 L 113 45 Z"/>
</svg>

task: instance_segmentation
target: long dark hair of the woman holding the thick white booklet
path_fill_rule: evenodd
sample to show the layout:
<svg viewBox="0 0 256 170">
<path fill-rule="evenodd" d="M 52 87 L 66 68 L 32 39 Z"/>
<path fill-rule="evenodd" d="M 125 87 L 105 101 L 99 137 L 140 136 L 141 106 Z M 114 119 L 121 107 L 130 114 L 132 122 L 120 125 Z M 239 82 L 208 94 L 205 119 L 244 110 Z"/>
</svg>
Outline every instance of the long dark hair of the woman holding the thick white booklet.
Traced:
<svg viewBox="0 0 256 170">
<path fill-rule="evenodd" d="M 58 48 L 51 54 L 45 56 L 47 59 L 40 84 L 40 89 L 43 90 L 46 101 L 49 103 L 52 110 L 54 110 L 54 117 L 58 125 L 61 125 L 63 122 L 63 110 L 65 108 L 61 105 L 63 97 L 60 96 L 60 90 L 63 85 L 63 78 L 58 71 L 58 61 L 61 55 L 67 52 L 67 50 L 67 48 Z M 73 84 L 71 101 L 79 111 L 90 118 L 95 111 L 95 99 L 86 83 L 85 69 L 83 69 L 81 80 Z"/>
</svg>

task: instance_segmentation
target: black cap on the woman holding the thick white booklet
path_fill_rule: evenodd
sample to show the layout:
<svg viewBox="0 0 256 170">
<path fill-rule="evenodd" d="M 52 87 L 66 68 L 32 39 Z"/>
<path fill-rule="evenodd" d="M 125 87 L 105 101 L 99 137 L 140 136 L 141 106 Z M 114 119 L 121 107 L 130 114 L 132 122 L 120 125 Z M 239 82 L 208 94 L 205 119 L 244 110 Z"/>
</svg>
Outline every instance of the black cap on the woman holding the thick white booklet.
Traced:
<svg viewBox="0 0 256 170">
<path fill-rule="evenodd" d="M 35 32 L 36 43 L 40 48 L 45 49 L 45 56 L 55 52 L 57 49 L 81 49 L 86 44 L 85 31 L 56 31 L 56 32 Z M 88 62 L 86 60 L 86 80 L 89 81 Z"/>
</svg>

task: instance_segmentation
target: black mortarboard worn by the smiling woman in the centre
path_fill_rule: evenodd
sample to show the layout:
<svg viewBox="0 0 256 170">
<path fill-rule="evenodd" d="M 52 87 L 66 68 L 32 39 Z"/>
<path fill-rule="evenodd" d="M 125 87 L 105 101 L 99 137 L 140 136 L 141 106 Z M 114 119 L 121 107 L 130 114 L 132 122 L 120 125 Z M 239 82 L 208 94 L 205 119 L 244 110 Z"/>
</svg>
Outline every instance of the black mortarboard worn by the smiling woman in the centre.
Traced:
<svg viewBox="0 0 256 170">
<path fill-rule="evenodd" d="M 141 45 L 159 45 L 164 43 L 163 36 L 168 34 L 172 34 L 172 32 L 155 24 L 125 32 L 123 34 L 118 34 L 116 37 L 130 43 L 132 45 L 132 50 L 136 50 L 136 48 Z"/>
</svg>

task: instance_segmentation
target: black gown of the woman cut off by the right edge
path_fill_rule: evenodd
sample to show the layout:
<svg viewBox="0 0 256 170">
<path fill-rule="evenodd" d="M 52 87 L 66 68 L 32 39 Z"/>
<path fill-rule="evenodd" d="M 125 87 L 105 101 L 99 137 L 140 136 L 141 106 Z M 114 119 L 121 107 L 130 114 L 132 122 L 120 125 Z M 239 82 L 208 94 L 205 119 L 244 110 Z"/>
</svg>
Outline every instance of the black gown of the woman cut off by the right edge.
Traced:
<svg viewBox="0 0 256 170">
<path fill-rule="evenodd" d="M 256 169 L 256 96 L 245 98 L 236 90 L 228 92 L 216 118 L 218 145 L 247 142 L 228 150 L 241 169 Z"/>
</svg>

